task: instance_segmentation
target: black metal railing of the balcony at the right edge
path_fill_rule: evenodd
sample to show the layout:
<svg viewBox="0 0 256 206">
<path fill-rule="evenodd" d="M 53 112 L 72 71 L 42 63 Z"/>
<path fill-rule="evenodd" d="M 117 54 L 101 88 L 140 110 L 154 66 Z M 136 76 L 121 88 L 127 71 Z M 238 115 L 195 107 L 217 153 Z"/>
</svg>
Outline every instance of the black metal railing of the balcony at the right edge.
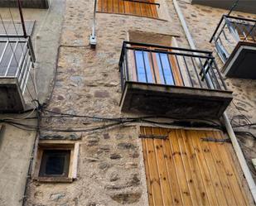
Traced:
<svg viewBox="0 0 256 206">
<path fill-rule="evenodd" d="M 256 20 L 223 15 L 210 42 L 224 63 L 239 41 L 256 43 Z"/>
</svg>

